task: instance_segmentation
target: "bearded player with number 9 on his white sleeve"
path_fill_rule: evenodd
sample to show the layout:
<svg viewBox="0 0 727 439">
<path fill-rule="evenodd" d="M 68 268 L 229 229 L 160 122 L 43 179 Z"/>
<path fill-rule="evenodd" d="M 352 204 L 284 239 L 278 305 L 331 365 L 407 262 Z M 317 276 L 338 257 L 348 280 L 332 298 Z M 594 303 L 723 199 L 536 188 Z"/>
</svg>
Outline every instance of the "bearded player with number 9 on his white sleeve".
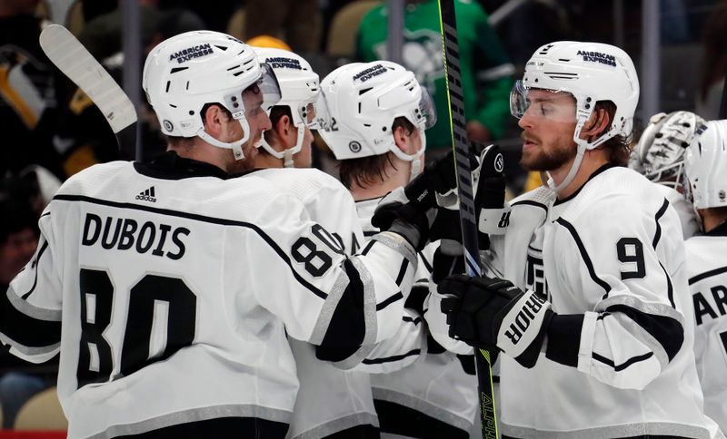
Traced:
<svg viewBox="0 0 727 439">
<path fill-rule="evenodd" d="M 543 45 L 513 88 L 521 164 L 549 177 L 513 202 L 505 243 L 519 244 L 502 257 L 516 285 L 439 284 L 453 336 L 503 352 L 503 437 L 722 437 L 702 412 L 680 220 L 624 167 L 638 96 L 628 54 L 596 43 Z M 524 285 L 533 245 L 540 291 Z"/>
</svg>

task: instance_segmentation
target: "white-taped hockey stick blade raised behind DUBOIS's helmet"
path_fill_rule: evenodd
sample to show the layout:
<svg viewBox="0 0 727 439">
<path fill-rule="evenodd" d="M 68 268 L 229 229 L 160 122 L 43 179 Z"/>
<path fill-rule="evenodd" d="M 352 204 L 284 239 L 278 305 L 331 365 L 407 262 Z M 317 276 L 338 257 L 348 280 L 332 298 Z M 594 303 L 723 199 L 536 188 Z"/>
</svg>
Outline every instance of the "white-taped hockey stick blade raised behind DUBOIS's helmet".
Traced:
<svg viewBox="0 0 727 439">
<path fill-rule="evenodd" d="M 136 109 L 124 90 L 64 26 L 45 27 L 40 34 L 40 46 L 48 59 L 104 113 L 122 158 L 132 159 L 136 148 Z"/>
</svg>

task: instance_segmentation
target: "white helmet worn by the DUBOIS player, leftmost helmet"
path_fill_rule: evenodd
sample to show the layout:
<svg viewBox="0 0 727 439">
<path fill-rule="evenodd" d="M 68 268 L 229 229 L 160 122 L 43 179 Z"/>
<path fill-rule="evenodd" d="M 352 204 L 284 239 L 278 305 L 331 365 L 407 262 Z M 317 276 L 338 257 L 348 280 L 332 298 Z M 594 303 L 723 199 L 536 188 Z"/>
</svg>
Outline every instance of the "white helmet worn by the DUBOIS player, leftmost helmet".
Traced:
<svg viewBox="0 0 727 439">
<path fill-rule="evenodd" d="M 244 158 L 242 145 L 250 139 L 246 114 L 259 112 L 280 100 L 280 88 L 268 66 L 253 49 L 218 32 L 178 34 L 156 45 L 146 57 L 142 86 L 154 107 L 162 132 L 169 136 L 200 137 Z M 243 128 L 239 141 L 224 142 L 204 131 L 202 110 L 218 103 Z"/>
</svg>

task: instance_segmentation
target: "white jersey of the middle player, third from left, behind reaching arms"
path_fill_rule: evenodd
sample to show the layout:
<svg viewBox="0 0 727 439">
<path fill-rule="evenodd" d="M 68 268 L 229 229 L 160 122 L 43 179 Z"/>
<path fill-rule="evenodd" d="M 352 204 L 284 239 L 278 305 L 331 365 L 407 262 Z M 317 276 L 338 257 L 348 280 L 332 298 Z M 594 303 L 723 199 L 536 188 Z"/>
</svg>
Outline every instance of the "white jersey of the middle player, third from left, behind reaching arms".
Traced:
<svg viewBox="0 0 727 439">
<path fill-rule="evenodd" d="M 379 200 L 356 202 L 364 234 L 377 232 L 371 218 Z M 429 290 L 433 249 L 429 245 L 419 255 L 415 285 L 424 291 Z M 464 431 L 473 427 L 478 407 L 477 379 L 464 371 L 463 362 L 452 352 L 431 354 L 424 346 L 411 366 L 388 374 L 373 374 L 371 381 L 375 400 L 403 405 Z"/>
</svg>

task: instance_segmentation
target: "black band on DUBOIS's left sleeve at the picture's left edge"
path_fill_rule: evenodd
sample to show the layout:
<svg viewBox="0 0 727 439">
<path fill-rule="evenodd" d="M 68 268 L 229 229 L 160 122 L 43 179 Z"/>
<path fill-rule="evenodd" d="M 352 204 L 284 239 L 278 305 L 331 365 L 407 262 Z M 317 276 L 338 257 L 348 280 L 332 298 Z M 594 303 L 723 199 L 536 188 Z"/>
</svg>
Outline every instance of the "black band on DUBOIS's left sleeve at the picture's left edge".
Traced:
<svg viewBox="0 0 727 439">
<path fill-rule="evenodd" d="M 61 341 L 61 322 L 28 316 L 16 308 L 8 291 L 0 297 L 0 332 L 24 347 L 53 346 Z"/>
</svg>

